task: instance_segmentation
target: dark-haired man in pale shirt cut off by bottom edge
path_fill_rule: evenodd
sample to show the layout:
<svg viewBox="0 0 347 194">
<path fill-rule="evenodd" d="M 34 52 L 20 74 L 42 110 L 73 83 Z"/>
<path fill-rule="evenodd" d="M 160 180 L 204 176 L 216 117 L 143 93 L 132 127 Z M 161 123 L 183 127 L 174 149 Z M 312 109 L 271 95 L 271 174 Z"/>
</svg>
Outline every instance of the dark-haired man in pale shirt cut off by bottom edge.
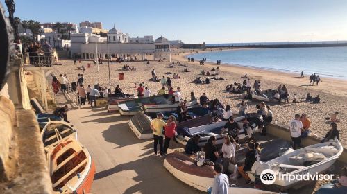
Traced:
<svg viewBox="0 0 347 194">
<path fill-rule="evenodd" d="M 214 182 L 212 188 L 208 188 L 209 194 L 228 194 L 229 178 L 227 175 L 221 173 L 223 167 L 221 164 L 214 164 Z"/>
</svg>

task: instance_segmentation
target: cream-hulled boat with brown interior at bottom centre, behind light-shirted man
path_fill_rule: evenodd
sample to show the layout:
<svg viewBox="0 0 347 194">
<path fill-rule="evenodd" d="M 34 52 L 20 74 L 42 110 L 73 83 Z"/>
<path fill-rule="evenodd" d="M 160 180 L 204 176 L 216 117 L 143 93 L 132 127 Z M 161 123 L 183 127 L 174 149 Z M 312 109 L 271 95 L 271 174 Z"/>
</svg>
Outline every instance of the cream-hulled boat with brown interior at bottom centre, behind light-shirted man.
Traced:
<svg viewBox="0 0 347 194">
<path fill-rule="evenodd" d="M 207 191 L 214 182 L 214 170 L 212 166 L 197 166 L 194 159 L 179 152 L 174 152 L 165 157 L 164 167 L 177 179 L 189 186 L 200 191 Z M 228 190 L 229 193 L 237 194 L 260 194 L 271 193 L 270 191 L 262 191 L 255 188 L 242 188 L 232 186 Z"/>
</svg>

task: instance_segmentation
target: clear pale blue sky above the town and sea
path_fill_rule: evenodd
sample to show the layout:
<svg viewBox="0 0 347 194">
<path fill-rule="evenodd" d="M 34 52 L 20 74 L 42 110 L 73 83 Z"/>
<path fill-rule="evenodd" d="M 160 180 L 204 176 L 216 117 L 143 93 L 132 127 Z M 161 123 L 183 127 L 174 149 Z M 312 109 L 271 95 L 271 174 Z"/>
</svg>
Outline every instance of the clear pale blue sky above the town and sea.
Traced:
<svg viewBox="0 0 347 194">
<path fill-rule="evenodd" d="M 101 21 L 130 37 L 174 35 L 185 43 L 347 39 L 346 0 L 17 0 L 15 16 Z"/>
</svg>

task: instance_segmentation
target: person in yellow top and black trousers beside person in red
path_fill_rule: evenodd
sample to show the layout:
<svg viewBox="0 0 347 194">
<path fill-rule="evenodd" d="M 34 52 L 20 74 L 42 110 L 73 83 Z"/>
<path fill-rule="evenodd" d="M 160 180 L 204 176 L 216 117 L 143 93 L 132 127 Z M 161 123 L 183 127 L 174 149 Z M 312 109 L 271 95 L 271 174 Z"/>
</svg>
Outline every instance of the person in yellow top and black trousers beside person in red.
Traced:
<svg viewBox="0 0 347 194">
<path fill-rule="evenodd" d="M 157 146 L 159 143 L 159 152 L 160 152 L 160 157 L 162 157 L 162 155 L 164 155 L 164 150 L 162 148 L 162 138 L 163 138 L 163 134 L 162 134 L 162 130 L 164 128 L 165 125 L 167 125 L 167 123 L 165 123 L 164 121 L 162 121 L 162 113 L 158 113 L 157 114 L 157 118 L 153 119 L 153 121 L 151 122 L 151 129 L 153 130 L 153 140 L 154 140 L 154 155 L 157 156 L 158 152 L 157 152 Z"/>
</svg>

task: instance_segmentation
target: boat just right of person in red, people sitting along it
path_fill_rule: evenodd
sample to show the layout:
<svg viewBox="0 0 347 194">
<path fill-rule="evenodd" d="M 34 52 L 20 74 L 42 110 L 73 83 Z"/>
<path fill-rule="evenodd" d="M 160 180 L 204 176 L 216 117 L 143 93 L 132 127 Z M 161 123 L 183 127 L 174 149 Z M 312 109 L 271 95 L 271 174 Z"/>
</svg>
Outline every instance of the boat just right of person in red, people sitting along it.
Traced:
<svg viewBox="0 0 347 194">
<path fill-rule="evenodd" d="M 235 122 L 237 122 L 237 124 L 240 127 L 239 130 L 239 141 L 244 141 L 247 138 L 251 138 L 252 134 L 254 134 L 255 132 L 259 132 L 259 129 L 257 127 L 257 125 L 255 125 L 255 123 L 251 124 L 251 127 L 244 129 L 244 120 L 245 117 L 244 116 L 240 116 L 235 118 Z M 185 135 L 183 133 L 181 133 L 180 131 L 178 131 L 178 136 L 176 137 L 176 140 L 178 141 L 178 143 L 181 143 L 183 145 L 187 145 L 187 142 L 189 141 L 189 139 L 194 136 L 194 135 L 198 135 L 200 136 L 200 143 L 198 143 L 198 146 L 203 147 L 205 145 L 205 143 L 208 142 L 208 139 L 210 138 L 210 136 L 215 136 L 217 139 L 216 144 L 222 144 L 223 143 L 223 139 L 225 136 L 228 135 L 227 132 L 223 132 L 221 134 L 221 129 L 224 127 L 224 125 L 226 125 L 227 121 L 219 121 L 217 123 L 210 123 L 208 125 L 201 125 L 198 127 L 192 127 L 189 128 L 189 135 Z M 246 134 L 246 130 L 247 130 L 247 134 Z"/>
</svg>

